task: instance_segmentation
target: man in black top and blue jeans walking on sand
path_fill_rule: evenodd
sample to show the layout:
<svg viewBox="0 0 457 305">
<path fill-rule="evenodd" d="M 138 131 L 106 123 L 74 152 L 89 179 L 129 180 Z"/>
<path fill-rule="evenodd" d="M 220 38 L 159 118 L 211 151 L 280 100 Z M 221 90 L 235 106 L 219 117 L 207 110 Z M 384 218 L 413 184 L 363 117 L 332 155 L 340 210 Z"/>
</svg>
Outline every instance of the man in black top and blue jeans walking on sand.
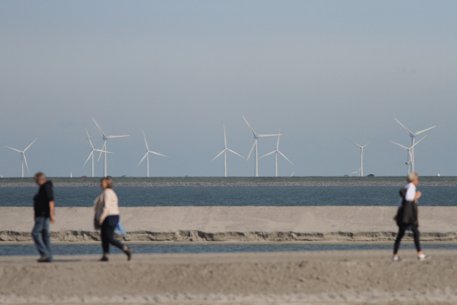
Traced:
<svg viewBox="0 0 457 305">
<path fill-rule="evenodd" d="M 32 237 L 41 257 L 39 262 L 52 262 L 51 236 L 49 223 L 54 223 L 54 192 L 52 182 L 46 175 L 38 172 L 34 176 L 38 193 L 34 196 L 35 226 Z"/>
</svg>

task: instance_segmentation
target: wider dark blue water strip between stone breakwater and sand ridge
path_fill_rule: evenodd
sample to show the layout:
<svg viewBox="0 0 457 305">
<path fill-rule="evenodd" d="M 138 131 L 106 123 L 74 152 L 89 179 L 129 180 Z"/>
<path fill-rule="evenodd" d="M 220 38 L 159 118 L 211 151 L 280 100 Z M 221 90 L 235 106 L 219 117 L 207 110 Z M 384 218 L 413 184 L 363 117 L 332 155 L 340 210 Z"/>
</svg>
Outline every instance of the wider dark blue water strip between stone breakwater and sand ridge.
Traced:
<svg viewBox="0 0 457 305">
<path fill-rule="evenodd" d="M 120 206 L 391 206 L 399 187 L 118 187 Z M 457 187 L 418 187 L 422 206 L 456 206 Z M 0 188 L 0 206 L 32 206 L 38 188 Z M 100 188 L 54 188 L 56 206 L 92 206 Z"/>
</svg>

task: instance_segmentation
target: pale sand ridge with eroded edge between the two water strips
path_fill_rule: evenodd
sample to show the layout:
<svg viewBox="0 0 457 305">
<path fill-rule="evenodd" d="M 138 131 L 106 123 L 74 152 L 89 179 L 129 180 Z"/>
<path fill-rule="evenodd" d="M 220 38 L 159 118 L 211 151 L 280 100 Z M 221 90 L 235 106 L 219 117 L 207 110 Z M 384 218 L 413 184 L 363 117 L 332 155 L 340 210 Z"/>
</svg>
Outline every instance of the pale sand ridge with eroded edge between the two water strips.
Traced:
<svg viewBox="0 0 457 305">
<path fill-rule="evenodd" d="M 390 206 L 120 207 L 127 241 L 391 241 Z M 419 207 L 421 239 L 457 240 L 457 207 Z M 100 240 L 91 207 L 57 207 L 54 241 Z M 0 207 L 0 242 L 31 241 L 32 207 Z"/>
</svg>

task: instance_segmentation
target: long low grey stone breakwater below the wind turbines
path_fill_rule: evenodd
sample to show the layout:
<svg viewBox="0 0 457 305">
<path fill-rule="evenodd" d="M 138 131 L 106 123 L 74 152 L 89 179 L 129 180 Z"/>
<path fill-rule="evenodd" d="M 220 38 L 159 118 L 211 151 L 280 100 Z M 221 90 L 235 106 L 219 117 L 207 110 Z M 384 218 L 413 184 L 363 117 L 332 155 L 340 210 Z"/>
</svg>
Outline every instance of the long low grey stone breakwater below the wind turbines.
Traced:
<svg viewBox="0 0 457 305">
<path fill-rule="evenodd" d="M 115 182 L 115 187 L 402 187 L 406 181 L 272 181 L 272 182 Z M 36 187 L 34 183 L 8 183 L 0 187 Z M 55 187 L 100 187 L 99 182 L 55 182 Z M 421 181 L 425 187 L 457 187 L 452 181 Z"/>
</svg>

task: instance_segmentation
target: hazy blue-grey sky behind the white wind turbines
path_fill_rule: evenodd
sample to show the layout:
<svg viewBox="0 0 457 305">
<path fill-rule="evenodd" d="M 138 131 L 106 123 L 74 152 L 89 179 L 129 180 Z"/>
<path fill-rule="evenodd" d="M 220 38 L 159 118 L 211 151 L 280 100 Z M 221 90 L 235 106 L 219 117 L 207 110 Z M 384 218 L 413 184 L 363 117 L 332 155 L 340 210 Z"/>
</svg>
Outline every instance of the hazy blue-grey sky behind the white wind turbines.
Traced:
<svg viewBox="0 0 457 305">
<path fill-rule="evenodd" d="M 0 175 L 223 176 L 277 134 L 279 176 L 457 175 L 455 1 L 0 2 Z M 348 139 L 348 140 L 346 140 Z M 258 156 L 278 137 L 258 140 Z M 253 176 L 227 153 L 227 176 Z M 95 176 L 103 175 L 103 156 Z M 274 154 L 259 176 L 275 175 Z"/>
</svg>

